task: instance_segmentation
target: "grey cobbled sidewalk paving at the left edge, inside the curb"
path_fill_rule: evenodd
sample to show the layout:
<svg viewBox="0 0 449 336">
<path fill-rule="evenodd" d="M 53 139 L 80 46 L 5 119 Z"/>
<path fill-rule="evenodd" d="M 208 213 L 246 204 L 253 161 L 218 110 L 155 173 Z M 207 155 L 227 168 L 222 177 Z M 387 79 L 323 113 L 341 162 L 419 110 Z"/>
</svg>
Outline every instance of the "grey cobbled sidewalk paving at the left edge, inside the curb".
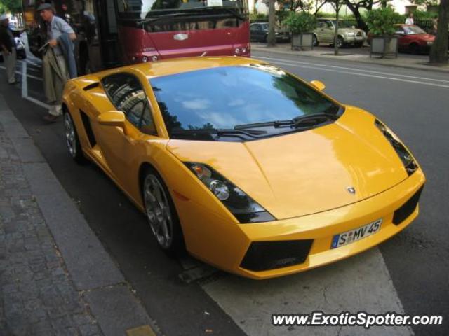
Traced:
<svg viewBox="0 0 449 336">
<path fill-rule="evenodd" d="M 22 159 L 41 160 L 30 140 Z M 0 124 L 0 335 L 102 335 L 90 311 Z"/>
</svg>

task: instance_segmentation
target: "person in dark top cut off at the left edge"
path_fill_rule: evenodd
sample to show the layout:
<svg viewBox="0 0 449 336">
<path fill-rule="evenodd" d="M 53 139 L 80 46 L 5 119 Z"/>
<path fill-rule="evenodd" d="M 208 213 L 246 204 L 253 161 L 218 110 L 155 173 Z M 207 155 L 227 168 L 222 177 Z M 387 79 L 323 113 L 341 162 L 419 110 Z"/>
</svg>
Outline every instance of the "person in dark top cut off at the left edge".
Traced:
<svg viewBox="0 0 449 336">
<path fill-rule="evenodd" d="M 0 15 L 0 50 L 6 65 L 6 77 L 8 83 L 18 83 L 15 80 L 15 40 L 13 32 L 9 27 L 9 20 L 6 14 Z"/>
</svg>

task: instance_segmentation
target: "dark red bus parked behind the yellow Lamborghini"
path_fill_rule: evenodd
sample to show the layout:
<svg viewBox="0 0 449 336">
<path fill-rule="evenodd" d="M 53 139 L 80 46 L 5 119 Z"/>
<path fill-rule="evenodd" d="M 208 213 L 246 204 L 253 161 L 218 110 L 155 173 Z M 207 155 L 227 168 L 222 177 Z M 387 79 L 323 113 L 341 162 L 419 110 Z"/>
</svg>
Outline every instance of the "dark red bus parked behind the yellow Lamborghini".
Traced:
<svg viewBox="0 0 449 336">
<path fill-rule="evenodd" d="M 171 57 L 250 56 L 248 0 L 53 3 L 79 36 L 76 59 L 81 74 Z"/>
</svg>

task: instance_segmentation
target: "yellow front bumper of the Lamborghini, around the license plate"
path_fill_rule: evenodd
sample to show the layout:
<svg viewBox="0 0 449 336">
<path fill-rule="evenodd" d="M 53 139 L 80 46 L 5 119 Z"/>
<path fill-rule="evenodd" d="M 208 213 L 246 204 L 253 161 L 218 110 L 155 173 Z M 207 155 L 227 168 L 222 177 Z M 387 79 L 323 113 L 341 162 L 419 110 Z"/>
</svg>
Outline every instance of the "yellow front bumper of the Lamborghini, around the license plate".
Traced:
<svg viewBox="0 0 449 336">
<path fill-rule="evenodd" d="M 417 217 L 418 206 L 397 225 L 393 223 L 394 213 L 422 188 L 424 182 L 422 170 L 417 169 L 408 179 L 383 193 L 330 211 L 269 223 L 217 223 L 217 231 L 213 237 L 208 237 L 210 239 L 207 243 L 192 246 L 187 241 L 187 249 L 196 258 L 252 279 L 269 279 L 302 272 L 365 251 L 406 228 Z M 359 228 L 379 218 L 383 218 L 382 226 L 374 235 L 339 248 L 330 248 L 334 235 Z M 232 227 L 237 227 L 238 230 L 227 229 Z M 307 239 L 313 239 L 313 242 L 307 257 L 300 264 L 258 272 L 241 266 L 253 242 Z"/>
</svg>

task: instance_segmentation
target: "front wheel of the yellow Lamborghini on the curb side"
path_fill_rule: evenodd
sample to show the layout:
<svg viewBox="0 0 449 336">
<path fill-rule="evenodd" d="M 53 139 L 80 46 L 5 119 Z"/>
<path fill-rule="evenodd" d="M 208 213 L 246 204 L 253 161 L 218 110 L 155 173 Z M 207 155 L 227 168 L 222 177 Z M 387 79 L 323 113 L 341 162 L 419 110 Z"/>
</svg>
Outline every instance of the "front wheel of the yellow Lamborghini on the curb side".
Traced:
<svg viewBox="0 0 449 336">
<path fill-rule="evenodd" d="M 175 204 L 161 176 L 147 168 L 141 181 L 145 217 L 159 247 L 168 255 L 185 253 L 184 236 Z"/>
</svg>

